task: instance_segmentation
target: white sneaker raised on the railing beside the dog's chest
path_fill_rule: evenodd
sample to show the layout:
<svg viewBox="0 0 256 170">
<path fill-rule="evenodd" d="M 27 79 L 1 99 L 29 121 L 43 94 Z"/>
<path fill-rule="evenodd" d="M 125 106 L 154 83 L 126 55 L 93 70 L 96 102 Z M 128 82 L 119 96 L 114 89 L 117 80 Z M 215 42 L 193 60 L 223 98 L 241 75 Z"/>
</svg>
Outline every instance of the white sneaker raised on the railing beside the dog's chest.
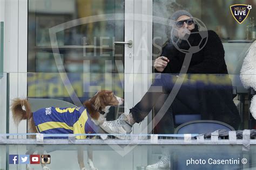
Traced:
<svg viewBox="0 0 256 170">
<path fill-rule="evenodd" d="M 125 121 L 126 116 L 122 114 L 118 119 L 114 121 L 105 121 L 103 124 L 99 125 L 102 130 L 109 134 L 130 134 L 132 131 L 132 125 Z M 127 136 L 117 135 L 117 138 L 127 139 Z"/>
</svg>

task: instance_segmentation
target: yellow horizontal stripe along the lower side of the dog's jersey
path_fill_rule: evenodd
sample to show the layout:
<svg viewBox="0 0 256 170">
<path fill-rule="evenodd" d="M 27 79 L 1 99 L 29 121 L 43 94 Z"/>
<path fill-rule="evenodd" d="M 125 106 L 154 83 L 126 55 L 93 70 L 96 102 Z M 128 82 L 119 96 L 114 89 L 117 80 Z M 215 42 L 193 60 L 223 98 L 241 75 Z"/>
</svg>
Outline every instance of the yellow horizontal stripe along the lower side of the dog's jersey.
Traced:
<svg viewBox="0 0 256 170">
<path fill-rule="evenodd" d="M 73 130 L 73 127 L 71 127 L 63 122 L 45 122 L 45 123 L 41 123 L 38 125 L 38 129 L 40 132 L 49 130 L 49 129 L 56 129 L 56 128 L 64 128 L 64 129 Z"/>
</svg>

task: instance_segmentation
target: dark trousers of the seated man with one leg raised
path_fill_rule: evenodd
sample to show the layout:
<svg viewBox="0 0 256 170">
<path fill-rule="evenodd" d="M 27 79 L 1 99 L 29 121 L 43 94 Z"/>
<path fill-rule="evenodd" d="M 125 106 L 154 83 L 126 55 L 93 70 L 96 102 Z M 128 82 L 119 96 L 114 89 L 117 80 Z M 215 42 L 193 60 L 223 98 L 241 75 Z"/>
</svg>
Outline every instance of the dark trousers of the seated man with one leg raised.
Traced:
<svg viewBox="0 0 256 170">
<path fill-rule="evenodd" d="M 171 93 L 176 80 L 177 76 L 175 75 L 160 74 L 156 76 L 156 79 L 143 96 L 142 100 L 130 109 L 134 121 L 137 123 L 143 121 L 157 103 L 158 108 L 161 108 L 160 105 L 164 104 L 164 101 Z M 198 113 L 198 88 L 201 86 L 203 85 L 196 81 L 185 80 L 178 89 L 178 93 L 175 96 L 176 100 L 173 101 L 173 104 L 167 103 L 170 106 L 172 104 L 172 112 L 174 114 L 183 112 L 186 112 L 186 114 Z M 157 87 L 158 89 L 156 89 Z M 159 90 L 159 87 L 161 87 L 161 90 Z M 163 94 L 166 94 L 165 97 L 163 96 L 162 98 L 159 98 Z"/>
</svg>

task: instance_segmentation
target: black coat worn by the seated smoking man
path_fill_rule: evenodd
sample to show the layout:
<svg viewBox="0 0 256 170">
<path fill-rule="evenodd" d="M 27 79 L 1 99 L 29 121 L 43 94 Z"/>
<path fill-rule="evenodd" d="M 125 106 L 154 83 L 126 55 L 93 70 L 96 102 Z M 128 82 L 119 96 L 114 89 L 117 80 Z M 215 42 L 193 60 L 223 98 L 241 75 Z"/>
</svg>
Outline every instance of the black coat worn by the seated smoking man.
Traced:
<svg viewBox="0 0 256 170">
<path fill-rule="evenodd" d="M 198 27 L 191 32 L 197 32 Z M 201 37 L 198 33 L 192 33 L 188 41 L 190 44 L 199 44 Z M 203 40 L 204 44 L 205 39 Z M 188 48 L 186 41 L 180 41 L 178 47 Z M 163 47 L 161 56 L 166 56 L 170 62 L 162 73 L 180 73 L 180 69 L 185 59 L 185 53 L 180 52 L 172 41 L 167 41 Z M 222 74 L 220 79 L 226 79 L 225 86 L 219 88 L 200 88 L 199 102 L 200 114 L 202 119 L 212 119 L 225 122 L 237 129 L 240 124 L 240 116 L 233 102 L 232 82 L 227 75 L 227 66 L 225 63 L 225 51 L 220 38 L 214 31 L 208 31 L 208 40 L 206 45 L 197 53 L 192 55 L 188 74 Z M 157 72 L 157 70 L 155 70 Z M 224 77 L 224 78 L 223 78 Z"/>
</svg>

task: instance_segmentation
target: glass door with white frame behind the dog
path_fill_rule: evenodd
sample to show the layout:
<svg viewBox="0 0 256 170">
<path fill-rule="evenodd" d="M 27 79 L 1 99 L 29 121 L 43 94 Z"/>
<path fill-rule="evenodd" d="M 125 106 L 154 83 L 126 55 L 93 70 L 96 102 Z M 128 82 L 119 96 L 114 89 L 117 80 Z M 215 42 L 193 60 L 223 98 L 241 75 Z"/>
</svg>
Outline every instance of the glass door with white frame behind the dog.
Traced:
<svg viewBox="0 0 256 170">
<path fill-rule="evenodd" d="M 133 87 L 125 81 L 133 72 L 132 13 L 133 1 L 29 0 L 28 97 L 80 105 L 107 89 L 127 106 Z M 130 92 L 124 93 L 126 87 Z M 123 108 L 111 108 L 107 119 L 116 119 Z"/>
</svg>

